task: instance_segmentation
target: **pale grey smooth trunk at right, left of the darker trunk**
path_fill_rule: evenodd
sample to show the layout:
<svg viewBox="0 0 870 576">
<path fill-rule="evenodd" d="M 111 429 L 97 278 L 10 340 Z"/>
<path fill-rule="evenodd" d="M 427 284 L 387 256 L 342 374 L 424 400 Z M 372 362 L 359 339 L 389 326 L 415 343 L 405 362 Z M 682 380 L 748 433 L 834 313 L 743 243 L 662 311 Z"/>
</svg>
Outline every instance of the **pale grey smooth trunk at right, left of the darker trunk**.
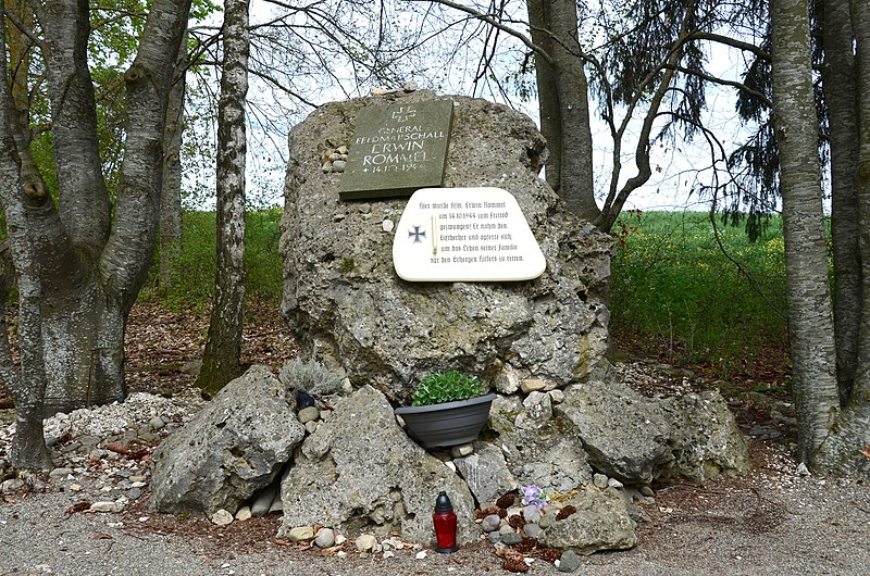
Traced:
<svg viewBox="0 0 870 576">
<path fill-rule="evenodd" d="M 807 0 L 772 0 L 774 126 L 780 147 L 786 298 L 798 459 L 811 458 L 840 405 L 821 201 Z"/>
</svg>

